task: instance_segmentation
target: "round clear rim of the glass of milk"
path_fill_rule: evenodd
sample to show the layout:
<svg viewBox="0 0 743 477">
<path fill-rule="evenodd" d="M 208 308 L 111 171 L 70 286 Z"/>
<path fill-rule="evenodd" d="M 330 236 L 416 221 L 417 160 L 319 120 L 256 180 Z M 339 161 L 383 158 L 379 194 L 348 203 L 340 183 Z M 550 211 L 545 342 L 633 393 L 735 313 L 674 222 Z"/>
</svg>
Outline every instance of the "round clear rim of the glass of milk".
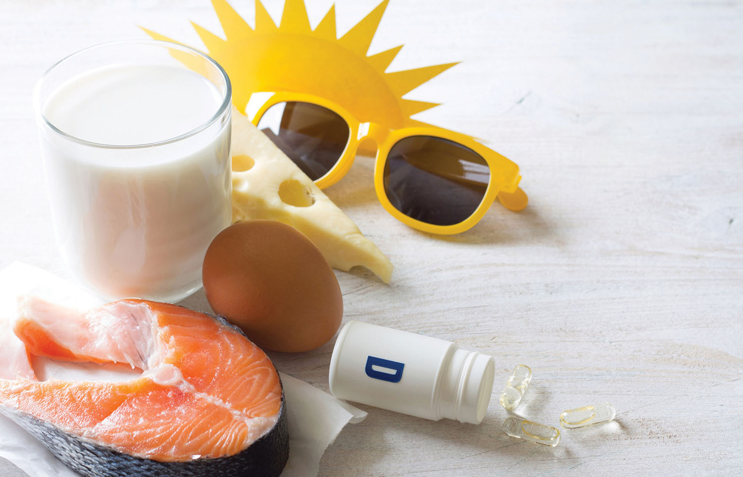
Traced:
<svg viewBox="0 0 743 477">
<path fill-rule="evenodd" d="M 225 91 L 224 91 L 224 98 L 222 99 L 221 104 L 219 105 L 219 108 L 217 108 L 217 111 L 215 114 L 212 115 L 208 120 L 206 120 L 204 123 L 202 123 L 200 126 L 197 126 L 195 129 L 191 129 L 190 131 L 184 132 L 184 134 L 180 134 L 176 137 L 171 137 L 169 139 L 165 140 L 159 140 L 152 143 L 140 143 L 140 144 L 106 144 L 106 143 L 97 143 L 94 141 L 89 141 L 85 139 L 81 139 L 80 137 L 73 136 L 72 134 L 68 134 L 67 132 L 62 131 L 61 129 L 54 126 L 50 120 L 45 116 L 44 111 L 42 111 L 42 105 L 40 104 L 40 95 L 41 95 L 41 88 L 44 84 L 45 80 L 51 74 L 51 72 L 61 65 L 63 62 L 68 61 L 68 59 L 73 58 L 74 56 L 78 56 L 82 53 L 97 49 L 97 48 L 103 48 L 113 45 L 152 45 L 152 46 L 161 46 L 163 48 L 169 48 L 169 49 L 177 49 L 180 51 L 185 51 L 186 53 L 193 53 L 195 55 L 201 56 L 202 58 L 206 59 L 207 62 L 210 62 L 212 65 L 214 65 L 217 68 L 217 71 L 221 74 L 221 76 L 224 78 L 224 85 L 225 85 Z M 186 66 L 184 66 L 186 68 Z M 188 69 L 188 68 L 186 68 Z M 70 53 L 64 58 L 60 59 L 59 61 L 55 62 L 53 65 L 51 65 L 47 71 L 44 72 L 41 78 L 36 82 L 36 86 L 33 88 L 33 109 L 36 113 L 36 118 L 41 119 L 43 124 L 45 126 L 48 126 L 49 129 L 51 129 L 56 134 L 59 134 L 62 137 L 65 137 L 68 140 L 74 141 L 75 143 L 82 144 L 83 146 L 89 146 L 89 147 L 95 147 L 99 149 L 144 149 L 149 147 L 155 147 L 155 146 L 164 146 L 166 144 L 171 143 L 177 143 L 180 140 L 187 139 L 188 137 L 192 137 L 195 134 L 198 134 L 201 131 L 204 131 L 204 129 L 209 128 L 212 126 L 213 123 L 215 123 L 223 114 L 224 111 L 227 110 L 227 108 L 230 108 L 230 105 L 232 103 L 232 83 L 230 82 L 230 77 L 227 76 L 227 71 L 224 71 L 224 68 L 215 61 L 211 56 L 207 55 L 206 53 L 203 53 L 201 51 L 198 51 L 195 48 L 191 48 L 186 45 L 181 45 L 180 43 L 175 42 L 166 42 L 163 40 L 155 40 L 155 39 L 126 39 L 126 40 L 115 40 L 113 42 L 105 42 L 105 43 L 99 43 L 98 45 L 89 46 L 87 48 L 82 48 L 82 50 L 75 51 L 74 53 Z"/>
</svg>

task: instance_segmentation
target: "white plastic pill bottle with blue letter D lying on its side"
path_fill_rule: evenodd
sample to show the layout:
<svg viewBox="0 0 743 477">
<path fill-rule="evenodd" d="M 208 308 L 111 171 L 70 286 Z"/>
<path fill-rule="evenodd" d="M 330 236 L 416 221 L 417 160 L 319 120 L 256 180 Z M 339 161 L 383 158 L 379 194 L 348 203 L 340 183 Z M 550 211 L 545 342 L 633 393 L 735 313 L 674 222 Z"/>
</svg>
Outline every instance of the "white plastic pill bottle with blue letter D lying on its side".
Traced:
<svg viewBox="0 0 743 477">
<path fill-rule="evenodd" d="M 493 392 L 493 357 L 421 334 L 348 322 L 330 362 L 335 397 L 438 421 L 480 424 Z"/>
</svg>

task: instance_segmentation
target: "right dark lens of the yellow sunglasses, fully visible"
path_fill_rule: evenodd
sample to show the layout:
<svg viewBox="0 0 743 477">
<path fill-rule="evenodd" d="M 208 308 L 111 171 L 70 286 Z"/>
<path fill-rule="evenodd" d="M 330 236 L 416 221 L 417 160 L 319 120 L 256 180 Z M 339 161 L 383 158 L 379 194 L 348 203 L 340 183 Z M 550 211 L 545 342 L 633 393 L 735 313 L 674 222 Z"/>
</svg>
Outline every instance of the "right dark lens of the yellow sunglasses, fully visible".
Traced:
<svg viewBox="0 0 743 477">
<path fill-rule="evenodd" d="M 395 209 L 426 224 L 453 225 L 475 212 L 490 181 L 472 149 L 433 136 L 406 137 L 389 151 L 384 190 Z"/>
</svg>

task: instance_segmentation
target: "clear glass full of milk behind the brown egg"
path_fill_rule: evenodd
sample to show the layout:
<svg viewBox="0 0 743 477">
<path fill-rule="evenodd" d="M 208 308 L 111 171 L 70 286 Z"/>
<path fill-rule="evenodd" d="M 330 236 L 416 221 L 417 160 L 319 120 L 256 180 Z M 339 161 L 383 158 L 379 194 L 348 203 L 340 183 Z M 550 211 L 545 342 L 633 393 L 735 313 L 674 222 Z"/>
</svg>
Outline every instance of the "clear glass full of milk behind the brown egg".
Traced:
<svg viewBox="0 0 743 477">
<path fill-rule="evenodd" d="M 201 287 L 231 221 L 231 100 L 217 62 L 155 40 L 87 48 L 39 80 L 54 232 L 83 286 L 163 302 Z"/>
</svg>

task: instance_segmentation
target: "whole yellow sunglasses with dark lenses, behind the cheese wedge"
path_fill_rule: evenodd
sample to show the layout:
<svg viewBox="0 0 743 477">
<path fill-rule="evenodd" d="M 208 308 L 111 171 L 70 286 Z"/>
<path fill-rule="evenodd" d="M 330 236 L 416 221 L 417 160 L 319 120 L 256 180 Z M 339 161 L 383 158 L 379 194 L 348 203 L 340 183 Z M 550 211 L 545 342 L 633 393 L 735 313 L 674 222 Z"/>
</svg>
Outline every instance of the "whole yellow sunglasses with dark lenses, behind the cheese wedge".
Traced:
<svg viewBox="0 0 743 477">
<path fill-rule="evenodd" d="M 374 140 L 377 198 L 410 227 L 438 234 L 464 232 L 496 197 L 508 210 L 526 207 L 519 166 L 465 134 L 435 126 L 390 130 L 363 123 L 345 108 L 311 94 L 253 97 L 267 98 L 251 108 L 253 124 L 321 189 L 351 169 L 360 143 Z"/>
</svg>

